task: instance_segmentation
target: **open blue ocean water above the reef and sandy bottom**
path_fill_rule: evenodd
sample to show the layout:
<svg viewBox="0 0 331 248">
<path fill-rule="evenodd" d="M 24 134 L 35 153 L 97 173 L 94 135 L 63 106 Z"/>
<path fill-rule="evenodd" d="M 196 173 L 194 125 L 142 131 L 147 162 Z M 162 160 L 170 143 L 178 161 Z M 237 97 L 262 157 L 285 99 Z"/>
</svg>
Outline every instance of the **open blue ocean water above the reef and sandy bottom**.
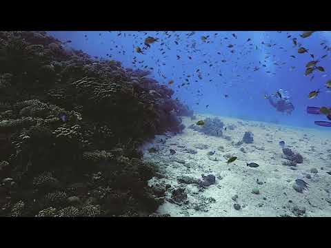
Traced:
<svg viewBox="0 0 331 248">
<path fill-rule="evenodd" d="M 324 115 L 306 112 L 307 106 L 331 107 L 331 92 L 325 87 L 331 79 L 331 32 L 314 32 L 307 38 L 300 36 L 302 31 L 48 33 L 61 41 L 71 41 L 66 45 L 68 49 L 83 50 L 97 59 L 121 61 L 125 68 L 150 70 L 154 79 L 172 87 L 173 97 L 194 112 L 331 132 L 331 127 L 314 125 L 314 121 L 328 121 Z M 147 48 L 147 37 L 158 41 Z M 137 52 L 137 47 L 143 54 Z M 308 52 L 299 54 L 300 47 Z M 314 70 L 305 76 L 305 65 L 316 60 L 325 72 Z M 174 81 L 171 85 L 170 80 Z M 264 97 L 279 89 L 290 95 L 294 105 L 291 115 L 277 112 Z M 320 90 L 320 94 L 308 99 L 313 90 Z"/>
</svg>

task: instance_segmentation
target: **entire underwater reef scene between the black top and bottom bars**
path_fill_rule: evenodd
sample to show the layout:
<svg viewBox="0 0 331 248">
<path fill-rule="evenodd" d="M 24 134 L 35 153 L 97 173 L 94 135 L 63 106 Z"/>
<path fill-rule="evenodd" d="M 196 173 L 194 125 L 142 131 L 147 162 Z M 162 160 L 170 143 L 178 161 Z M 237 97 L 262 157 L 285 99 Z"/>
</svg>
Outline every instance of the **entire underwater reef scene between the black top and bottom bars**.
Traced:
<svg viewBox="0 0 331 248">
<path fill-rule="evenodd" d="M 0 216 L 331 216 L 331 32 L 0 32 Z"/>
</svg>

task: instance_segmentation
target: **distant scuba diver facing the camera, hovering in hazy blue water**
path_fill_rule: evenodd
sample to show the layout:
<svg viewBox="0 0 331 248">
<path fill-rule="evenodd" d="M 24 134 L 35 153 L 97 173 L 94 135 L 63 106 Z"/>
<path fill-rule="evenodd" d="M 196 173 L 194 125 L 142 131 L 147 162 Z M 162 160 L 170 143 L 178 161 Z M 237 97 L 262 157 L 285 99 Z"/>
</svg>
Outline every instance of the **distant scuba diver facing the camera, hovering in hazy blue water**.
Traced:
<svg viewBox="0 0 331 248">
<path fill-rule="evenodd" d="M 279 91 L 270 96 L 265 94 L 264 98 L 268 99 L 272 107 L 275 107 L 279 112 L 292 114 L 292 111 L 294 110 L 294 105 L 290 102 L 290 96 L 288 95 L 288 92 L 283 89 L 279 89 Z"/>
</svg>

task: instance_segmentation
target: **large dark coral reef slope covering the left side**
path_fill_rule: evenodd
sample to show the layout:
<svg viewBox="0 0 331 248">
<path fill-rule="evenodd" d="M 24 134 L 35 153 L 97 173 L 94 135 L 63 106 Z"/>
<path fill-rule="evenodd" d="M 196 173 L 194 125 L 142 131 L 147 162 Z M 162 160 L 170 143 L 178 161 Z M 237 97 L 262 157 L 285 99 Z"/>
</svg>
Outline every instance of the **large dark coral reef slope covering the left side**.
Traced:
<svg viewBox="0 0 331 248">
<path fill-rule="evenodd" d="M 46 32 L 0 32 L 0 215 L 141 216 L 163 198 L 139 145 L 190 115 L 149 72 Z"/>
</svg>

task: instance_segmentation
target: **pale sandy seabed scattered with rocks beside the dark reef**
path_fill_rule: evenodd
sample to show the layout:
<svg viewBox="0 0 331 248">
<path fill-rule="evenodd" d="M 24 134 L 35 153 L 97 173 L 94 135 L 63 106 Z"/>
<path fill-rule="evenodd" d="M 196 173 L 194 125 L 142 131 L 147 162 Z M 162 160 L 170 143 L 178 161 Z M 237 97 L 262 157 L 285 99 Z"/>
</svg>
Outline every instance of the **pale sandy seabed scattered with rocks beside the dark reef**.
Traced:
<svg viewBox="0 0 331 248">
<path fill-rule="evenodd" d="M 182 134 L 156 136 L 152 142 L 143 145 L 144 159 L 157 163 L 163 175 L 152 178 L 150 187 L 167 187 L 165 201 L 158 209 L 159 214 L 331 216 L 331 175 L 326 173 L 331 171 L 330 130 L 319 131 L 208 114 L 196 116 L 194 121 L 183 118 L 186 128 Z M 234 130 L 227 128 L 223 131 L 223 136 L 230 136 L 231 139 L 208 136 L 188 128 L 207 117 L 220 118 L 225 127 L 235 125 Z M 254 134 L 254 142 L 236 145 L 248 131 Z M 303 163 L 296 167 L 283 165 L 286 159 L 279 141 L 285 141 L 287 147 L 299 152 L 303 156 Z M 148 152 L 151 147 L 156 147 L 158 151 Z M 171 155 L 170 149 L 174 149 L 176 154 Z M 188 149 L 194 149 L 197 153 L 189 153 Z M 213 151 L 215 153 L 212 156 L 208 155 Z M 228 165 L 226 161 L 229 156 L 237 156 L 237 160 Z M 259 167 L 248 167 L 247 163 L 257 163 Z M 312 173 L 312 168 L 316 168 L 317 173 Z M 215 183 L 200 187 L 177 180 L 181 176 L 201 179 L 202 174 L 213 174 Z M 297 178 L 305 180 L 309 189 L 302 193 L 295 191 L 292 185 Z M 172 192 L 179 187 L 185 188 L 187 198 L 177 203 L 172 200 Z M 252 193 L 255 187 L 259 189 L 259 194 Z M 237 209 L 234 208 L 235 204 Z"/>
</svg>

